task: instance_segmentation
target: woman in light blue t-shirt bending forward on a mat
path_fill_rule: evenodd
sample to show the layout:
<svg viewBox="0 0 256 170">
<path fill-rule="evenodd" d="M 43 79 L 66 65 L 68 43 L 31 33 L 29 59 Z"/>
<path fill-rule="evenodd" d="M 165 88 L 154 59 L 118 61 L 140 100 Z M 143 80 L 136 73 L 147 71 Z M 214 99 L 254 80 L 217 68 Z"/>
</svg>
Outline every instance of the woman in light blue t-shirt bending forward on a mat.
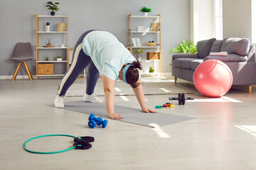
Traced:
<svg viewBox="0 0 256 170">
<path fill-rule="evenodd" d="M 88 30 L 76 42 L 72 64 L 61 81 L 58 96 L 54 101 L 56 108 L 64 108 L 63 98 L 66 91 L 86 67 L 87 84 L 83 101 L 102 103 L 100 98 L 93 94 L 97 79 L 102 74 L 105 106 L 110 118 L 122 119 L 121 115 L 114 112 L 114 81 L 117 79 L 132 86 L 143 112 L 156 113 L 146 108 L 139 72 L 139 69 L 142 69 L 141 64 L 114 35 L 102 30 Z"/>
</svg>

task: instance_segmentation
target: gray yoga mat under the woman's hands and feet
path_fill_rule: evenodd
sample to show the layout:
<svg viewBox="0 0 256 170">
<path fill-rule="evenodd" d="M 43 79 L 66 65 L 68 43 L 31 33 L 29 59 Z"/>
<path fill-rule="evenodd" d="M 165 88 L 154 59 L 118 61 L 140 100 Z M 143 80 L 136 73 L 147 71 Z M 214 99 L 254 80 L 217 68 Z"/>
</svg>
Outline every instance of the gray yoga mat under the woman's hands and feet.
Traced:
<svg viewBox="0 0 256 170">
<path fill-rule="evenodd" d="M 80 113 L 94 113 L 96 116 L 102 118 L 108 118 L 105 103 L 89 103 L 85 101 L 71 101 L 65 103 L 65 108 L 70 111 L 77 111 Z M 129 108 L 124 106 L 114 106 L 114 111 L 122 115 L 123 119 L 119 120 L 126 123 L 133 123 L 136 125 L 144 125 L 152 127 L 150 123 L 157 124 L 159 126 L 171 125 L 175 123 L 181 123 L 187 120 L 193 120 L 195 118 L 173 115 L 170 113 L 143 113 L 137 108 Z M 159 110 L 158 110 L 159 111 Z"/>
</svg>

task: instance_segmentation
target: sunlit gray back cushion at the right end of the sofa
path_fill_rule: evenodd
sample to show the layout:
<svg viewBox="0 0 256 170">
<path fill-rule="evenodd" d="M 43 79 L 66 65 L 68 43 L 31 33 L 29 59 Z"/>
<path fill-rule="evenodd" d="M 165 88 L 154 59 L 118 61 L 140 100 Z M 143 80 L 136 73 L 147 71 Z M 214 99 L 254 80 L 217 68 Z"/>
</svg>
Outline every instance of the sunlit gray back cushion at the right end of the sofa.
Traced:
<svg viewBox="0 0 256 170">
<path fill-rule="evenodd" d="M 247 38 L 225 38 L 220 51 L 228 54 L 248 55 L 250 50 L 250 40 Z"/>
</svg>

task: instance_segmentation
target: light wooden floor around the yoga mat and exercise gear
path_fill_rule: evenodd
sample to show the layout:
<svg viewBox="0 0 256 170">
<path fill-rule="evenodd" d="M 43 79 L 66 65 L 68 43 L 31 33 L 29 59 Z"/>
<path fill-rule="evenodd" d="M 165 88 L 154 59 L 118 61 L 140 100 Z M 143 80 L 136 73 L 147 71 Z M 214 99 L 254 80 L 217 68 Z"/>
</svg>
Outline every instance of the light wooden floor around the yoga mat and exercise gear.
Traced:
<svg viewBox="0 0 256 170">
<path fill-rule="evenodd" d="M 109 120 L 107 128 L 87 127 L 88 115 L 47 106 L 53 103 L 60 79 L 0 80 L 0 169 L 256 169 L 256 88 L 232 88 L 223 98 L 206 98 L 193 84 L 195 101 L 159 111 L 195 117 L 159 129 Z M 173 82 L 170 86 L 175 86 Z M 138 108 L 135 96 L 121 106 Z M 170 95 L 146 96 L 149 108 L 169 102 Z M 103 97 L 100 97 L 103 99 Z M 65 101 L 80 98 L 65 98 Z M 146 114 L 146 113 L 145 113 Z M 47 134 L 92 136 L 92 148 L 60 154 L 31 154 L 23 143 Z M 72 147 L 70 137 L 46 137 L 28 143 L 41 152 Z"/>
</svg>

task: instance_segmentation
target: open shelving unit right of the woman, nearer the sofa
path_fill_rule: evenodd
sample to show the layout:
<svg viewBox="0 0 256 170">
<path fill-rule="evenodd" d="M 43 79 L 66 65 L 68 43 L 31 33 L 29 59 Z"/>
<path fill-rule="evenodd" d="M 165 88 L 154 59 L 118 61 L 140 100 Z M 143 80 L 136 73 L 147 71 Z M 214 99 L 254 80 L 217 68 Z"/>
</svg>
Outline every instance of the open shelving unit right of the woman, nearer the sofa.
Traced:
<svg viewBox="0 0 256 170">
<path fill-rule="evenodd" d="M 142 67 L 144 67 L 144 65 L 148 64 L 148 65 L 154 65 L 154 72 L 153 73 L 149 73 L 148 72 L 148 67 L 146 67 L 146 69 L 144 68 L 142 74 L 159 74 L 159 76 L 161 77 L 161 16 L 160 14 L 156 15 L 156 16 L 133 16 L 132 13 L 129 14 L 128 16 L 129 18 L 129 50 L 130 52 L 135 55 L 135 51 L 138 49 L 142 49 L 142 50 L 149 50 L 149 52 L 159 52 L 159 60 L 140 60 L 140 62 L 142 63 Z M 152 22 L 152 19 L 154 20 Z M 133 23 L 134 20 L 137 21 L 146 21 L 146 23 L 148 22 L 148 26 L 150 27 L 151 23 L 159 23 L 159 31 L 150 31 L 149 29 L 144 30 L 144 31 L 138 31 L 135 30 L 133 27 Z M 136 26 L 140 26 L 137 25 Z M 142 47 L 134 47 L 132 45 L 132 38 L 136 38 L 137 36 L 146 36 L 146 35 L 156 35 L 156 45 L 153 47 L 149 47 L 144 45 L 144 42 L 142 42 Z"/>
</svg>

